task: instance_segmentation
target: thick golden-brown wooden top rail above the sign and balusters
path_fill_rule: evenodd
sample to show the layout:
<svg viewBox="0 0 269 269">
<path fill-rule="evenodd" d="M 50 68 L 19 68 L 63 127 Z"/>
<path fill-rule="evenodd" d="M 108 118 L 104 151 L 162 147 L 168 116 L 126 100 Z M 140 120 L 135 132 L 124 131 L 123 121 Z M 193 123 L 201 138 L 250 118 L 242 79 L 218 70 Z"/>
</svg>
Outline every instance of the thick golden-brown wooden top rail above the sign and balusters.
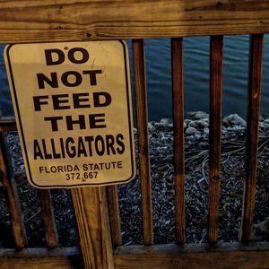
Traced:
<svg viewBox="0 0 269 269">
<path fill-rule="evenodd" d="M 0 1 L 0 43 L 268 31 L 266 0 Z"/>
</svg>

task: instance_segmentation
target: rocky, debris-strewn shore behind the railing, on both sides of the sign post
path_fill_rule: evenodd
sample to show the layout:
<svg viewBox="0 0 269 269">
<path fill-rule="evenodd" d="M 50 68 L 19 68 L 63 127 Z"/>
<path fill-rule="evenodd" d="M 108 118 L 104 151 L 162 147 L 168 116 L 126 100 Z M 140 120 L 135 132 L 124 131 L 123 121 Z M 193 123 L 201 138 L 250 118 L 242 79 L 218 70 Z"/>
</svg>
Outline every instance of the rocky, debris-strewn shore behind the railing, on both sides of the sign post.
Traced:
<svg viewBox="0 0 269 269">
<path fill-rule="evenodd" d="M 137 136 L 136 133 L 134 129 L 135 137 Z M 149 123 L 149 134 L 154 240 L 156 244 L 172 243 L 175 241 L 173 125 L 169 119 L 151 122 Z M 208 135 L 208 115 L 201 111 L 189 113 L 185 120 L 187 243 L 206 241 Z M 269 216 L 269 117 L 260 118 L 259 135 L 256 223 L 264 221 Z M 18 136 L 14 133 L 8 134 L 7 139 L 14 171 L 18 175 L 23 175 L 24 166 Z M 224 117 L 222 120 L 221 143 L 219 239 L 235 241 L 239 237 L 241 222 L 246 121 L 238 115 Z M 17 183 L 22 200 L 22 213 L 24 220 L 26 220 L 26 229 L 32 237 L 30 244 L 32 246 L 45 244 L 37 192 L 28 184 L 25 184 L 23 177 L 18 177 Z M 139 174 L 130 183 L 119 186 L 118 193 L 124 244 L 141 244 L 143 242 L 143 229 Z M 60 243 L 63 246 L 77 245 L 70 192 L 68 190 L 52 190 L 52 195 Z M 5 206 L 2 190 L 0 190 L 0 206 L 1 208 Z M 1 227 L 7 227 L 6 229 L 10 230 L 6 208 L 0 214 Z M 254 236 L 256 237 L 255 234 Z M 267 238 L 265 235 L 259 239 Z"/>
</svg>

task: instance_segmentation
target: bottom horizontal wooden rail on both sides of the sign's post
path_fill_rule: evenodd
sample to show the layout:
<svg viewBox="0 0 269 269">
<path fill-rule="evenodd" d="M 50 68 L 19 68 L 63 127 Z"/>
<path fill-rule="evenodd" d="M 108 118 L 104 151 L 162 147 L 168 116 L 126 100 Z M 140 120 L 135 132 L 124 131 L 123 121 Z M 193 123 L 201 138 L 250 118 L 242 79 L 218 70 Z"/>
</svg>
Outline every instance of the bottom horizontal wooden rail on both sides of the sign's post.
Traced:
<svg viewBox="0 0 269 269">
<path fill-rule="evenodd" d="M 269 243 L 117 247 L 116 268 L 268 268 Z M 225 262 L 223 262 L 225 261 Z M 82 268 L 78 247 L 1 249 L 3 268 Z"/>
</svg>

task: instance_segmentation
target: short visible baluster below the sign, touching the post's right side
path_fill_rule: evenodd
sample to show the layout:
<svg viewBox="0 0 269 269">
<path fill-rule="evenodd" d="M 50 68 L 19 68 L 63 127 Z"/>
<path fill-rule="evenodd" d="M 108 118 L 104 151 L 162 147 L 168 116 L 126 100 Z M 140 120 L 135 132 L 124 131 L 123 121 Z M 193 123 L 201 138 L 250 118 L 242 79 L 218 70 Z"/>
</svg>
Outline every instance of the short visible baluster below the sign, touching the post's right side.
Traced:
<svg viewBox="0 0 269 269">
<path fill-rule="evenodd" d="M 117 186 L 108 186 L 108 209 L 113 246 L 122 244 Z"/>
</svg>

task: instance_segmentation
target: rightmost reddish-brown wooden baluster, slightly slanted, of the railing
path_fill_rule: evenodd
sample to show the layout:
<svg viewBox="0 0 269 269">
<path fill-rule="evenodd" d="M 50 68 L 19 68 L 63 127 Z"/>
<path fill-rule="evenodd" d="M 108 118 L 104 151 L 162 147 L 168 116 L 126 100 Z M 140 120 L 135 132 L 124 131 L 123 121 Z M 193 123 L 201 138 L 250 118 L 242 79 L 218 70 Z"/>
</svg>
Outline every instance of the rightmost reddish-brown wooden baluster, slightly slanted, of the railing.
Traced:
<svg viewBox="0 0 269 269">
<path fill-rule="evenodd" d="M 247 160 L 241 233 L 243 241 L 251 239 L 253 213 L 255 210 L 263 42 L 263 35 L 251 36 L 248 74 Z"/>
</svg>

